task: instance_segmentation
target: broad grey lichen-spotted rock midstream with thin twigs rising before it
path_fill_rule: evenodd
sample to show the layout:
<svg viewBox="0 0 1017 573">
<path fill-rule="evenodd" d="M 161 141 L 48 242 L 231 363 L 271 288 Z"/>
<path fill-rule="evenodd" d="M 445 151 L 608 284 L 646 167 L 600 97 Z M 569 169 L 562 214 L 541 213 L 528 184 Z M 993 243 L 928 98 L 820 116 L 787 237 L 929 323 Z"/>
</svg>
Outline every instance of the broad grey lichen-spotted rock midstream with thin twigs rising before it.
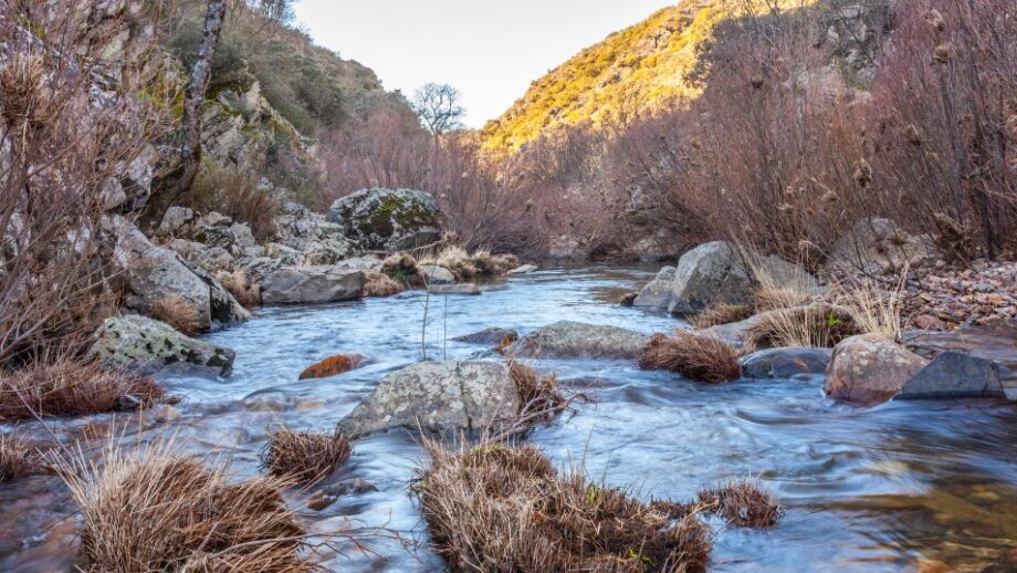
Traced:
<svg viewBox="0 0 1017 573">
<path fill-rule="evenodd" d="M 500 362 L 422 362 L 381 378 L 339 421 L 347 436 L 419 424 L 431 430 L 481 429 L 515 413 L 518 395 Z"/>
</svg>

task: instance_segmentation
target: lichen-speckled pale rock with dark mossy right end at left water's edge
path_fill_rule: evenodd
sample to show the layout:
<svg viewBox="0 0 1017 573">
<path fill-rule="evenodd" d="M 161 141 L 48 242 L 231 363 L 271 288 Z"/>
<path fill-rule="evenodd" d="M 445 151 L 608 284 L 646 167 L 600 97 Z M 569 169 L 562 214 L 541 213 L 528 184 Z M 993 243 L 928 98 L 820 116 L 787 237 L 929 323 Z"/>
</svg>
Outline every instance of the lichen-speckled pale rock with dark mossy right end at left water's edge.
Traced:
<svg viewBox="0 0 1017 573">
<path fill-rule="evenodd" d="M 170 325 L 138 315 L 106 319 L 90 354 L 111 368 L 155 374 L 178 363 L 229 376 L 235 353 L 190 338 Z"/>
</svg>

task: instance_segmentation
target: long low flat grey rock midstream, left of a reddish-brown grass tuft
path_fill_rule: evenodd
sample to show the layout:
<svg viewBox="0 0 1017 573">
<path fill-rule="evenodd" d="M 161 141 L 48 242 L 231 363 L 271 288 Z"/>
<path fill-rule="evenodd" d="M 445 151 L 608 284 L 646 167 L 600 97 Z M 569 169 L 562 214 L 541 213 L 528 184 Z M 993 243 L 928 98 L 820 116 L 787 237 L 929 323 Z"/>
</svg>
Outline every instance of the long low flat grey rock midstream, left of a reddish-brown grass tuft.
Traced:
<svg viewBox="0 0 1017 573">
<path fill-rule="evenodd" d="M 648 334 L 628 329 L 560 321 L 523 336 L 505 353 L 532 358 L 635 360 L 649 342 Z"/>
</svg>

